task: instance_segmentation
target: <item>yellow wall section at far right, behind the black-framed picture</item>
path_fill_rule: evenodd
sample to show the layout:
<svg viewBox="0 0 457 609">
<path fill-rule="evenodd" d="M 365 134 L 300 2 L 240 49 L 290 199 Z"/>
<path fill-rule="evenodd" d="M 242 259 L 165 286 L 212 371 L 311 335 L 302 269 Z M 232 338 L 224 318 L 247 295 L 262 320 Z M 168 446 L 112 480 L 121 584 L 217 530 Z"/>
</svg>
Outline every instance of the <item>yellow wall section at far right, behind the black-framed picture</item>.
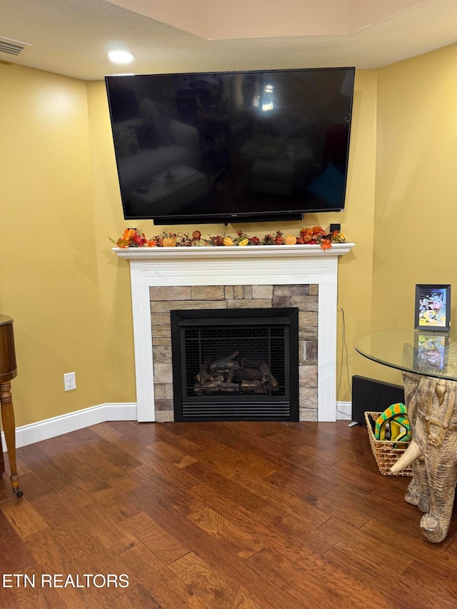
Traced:
<svg viewBox="0 0 457 609">
<path fill-rule="evenodd" d="M 456 321 L 456 99 L 456 45 L 378 70 L 373 330 L 413 327 L 416 283 L 453 283 Z"/>
</svg>

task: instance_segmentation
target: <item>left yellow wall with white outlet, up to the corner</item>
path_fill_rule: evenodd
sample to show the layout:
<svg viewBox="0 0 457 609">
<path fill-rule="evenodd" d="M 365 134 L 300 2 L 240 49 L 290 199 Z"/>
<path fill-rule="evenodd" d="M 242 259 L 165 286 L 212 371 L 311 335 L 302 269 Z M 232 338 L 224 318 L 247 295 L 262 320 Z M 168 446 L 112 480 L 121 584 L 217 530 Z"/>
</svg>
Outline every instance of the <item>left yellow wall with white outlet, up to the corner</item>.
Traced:
<svg viewBox="0 0 457 609">
<path fill-rule="evenodd" d="M 0 311 L 21 425 L 103 401 L 99 269 L 86 84 L 0 62 L 0 91 Z"/>
</svg>

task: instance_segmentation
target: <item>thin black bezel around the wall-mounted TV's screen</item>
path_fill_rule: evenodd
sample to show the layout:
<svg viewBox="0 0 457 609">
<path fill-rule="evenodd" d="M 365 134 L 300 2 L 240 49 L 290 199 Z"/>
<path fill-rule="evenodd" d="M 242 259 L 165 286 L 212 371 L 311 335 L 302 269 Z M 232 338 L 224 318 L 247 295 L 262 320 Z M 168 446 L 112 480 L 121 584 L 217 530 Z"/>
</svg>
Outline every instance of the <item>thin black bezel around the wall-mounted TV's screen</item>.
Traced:
<svg viewBox="0 0 457 609">
<path fill-rule="evenodd" d="M 224 71 L 194 71 L 194 72 L 164 72 L 161 74 L 111 74 L 105 76 L 105 86 L 106 86 L 106 94 L 108 98 L 109 104 L 109 115 L 110 115 L 110 123 L 111 129 L 113 127 L 112 121 L 112 112 L 111 112 L 111 101 L 110 101 L 110 91 L 109 91 L 109 80 L 111 79 L 119 79 L 119 78 L 135 78 L 146 77 L 146 76 L 209 76 L 209 75 L 231 75 L 234 76 L 236 74 L 283 74 L 286 72 L 305 72 L 305 71 L 346 71 L 352 74 L 351 79 L 351 96 L 349 102 L 349 113 L 350 116 L 348 123 L 348 138 L 346 143 L 346 173 L 344 179 L 344 189 L 343 189 L 343 198 L 342 198 L 342 206 L 340 207 L 323 207 L 323 208 L 306 208 L 306 209 L 292 209 L 292 210 L 284 210 L 284 211 L 246 211 L 246 213 L 208 213 L 208 214 L 185 214 L 185 215 L 173 215 L 173 216 L 159 216 L 154 217 L 152 215 L 141 215 L 138 214 L 136 216 L 126 215 L 126 208 L 124 202 L 124 196 L 121 188 L 121 174 L 119 171 L 119 162 L 116 156 L 116 170 L 118 174 L 119 181 L 119 191 L 121 195 L 121 204 L 122 211 L 125 220 L 152 220 L 154 225 L 156 226 L 165 226 L 165 225 L 178 225 L 178 224 L 191 224 L 191 223 L 206 223 L 206 224 L 216 224 L 216 223 L 224 223 L 225 225 L 229 223 L 239 223 L 239 222 L 270 222 L 270 221 L 293 221 L 293 220 L 302 220 L 305 214 L 308 213 L 330 213 L 335 212 L 339 213 L 344 211 L 346 208 L 346 191 L 347 191 L 347 178 L 348 178 L 348 165 L 349 165 L 349 150 L 351 143 L 351 128 L 352 128 L 352 114 L 353 114 L 353 97 L 354 97 L 354 84 L 355 84 L 355 74 L 356 68 L 355 66 L 331 66 L 331 67 L 314 67 L 314 68 L 287 68 L 287 69 L 257 69 L 257 70 L 224 70 Z M 114 142 L 114 133 L 111 131 Z"/>
</svg>

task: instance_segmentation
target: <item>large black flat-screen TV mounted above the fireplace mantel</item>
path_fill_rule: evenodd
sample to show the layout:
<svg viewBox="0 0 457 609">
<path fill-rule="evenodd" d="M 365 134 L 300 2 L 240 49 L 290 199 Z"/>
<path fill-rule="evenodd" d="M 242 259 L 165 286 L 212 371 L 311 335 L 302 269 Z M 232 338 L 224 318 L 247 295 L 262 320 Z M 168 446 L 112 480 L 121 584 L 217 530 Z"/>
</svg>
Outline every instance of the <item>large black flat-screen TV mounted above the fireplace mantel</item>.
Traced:
<svg viewBox="0 0 457 609">
<path fill-rule="evenodd" d="M 124 218 L 234 223 L 343 210 L 354 74 L 106 76 Z"/>
</svg>

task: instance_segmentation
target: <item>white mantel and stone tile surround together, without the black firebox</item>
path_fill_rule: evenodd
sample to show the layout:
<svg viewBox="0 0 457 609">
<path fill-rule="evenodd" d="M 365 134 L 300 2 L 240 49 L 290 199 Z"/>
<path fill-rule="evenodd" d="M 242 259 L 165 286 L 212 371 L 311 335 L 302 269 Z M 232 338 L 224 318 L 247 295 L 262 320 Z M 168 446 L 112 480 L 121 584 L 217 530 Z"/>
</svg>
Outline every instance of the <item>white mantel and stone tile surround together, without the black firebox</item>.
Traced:
<svg viewBox="0 0 457 609">
<path fill-rule="evenodd" d="M 171 309 L 299 309 L 300 421 L 336 420 L 338 257 L 318 246 L 113 248 L 130 261 L 138 421 L 173 421 Z"/>
</svg>

